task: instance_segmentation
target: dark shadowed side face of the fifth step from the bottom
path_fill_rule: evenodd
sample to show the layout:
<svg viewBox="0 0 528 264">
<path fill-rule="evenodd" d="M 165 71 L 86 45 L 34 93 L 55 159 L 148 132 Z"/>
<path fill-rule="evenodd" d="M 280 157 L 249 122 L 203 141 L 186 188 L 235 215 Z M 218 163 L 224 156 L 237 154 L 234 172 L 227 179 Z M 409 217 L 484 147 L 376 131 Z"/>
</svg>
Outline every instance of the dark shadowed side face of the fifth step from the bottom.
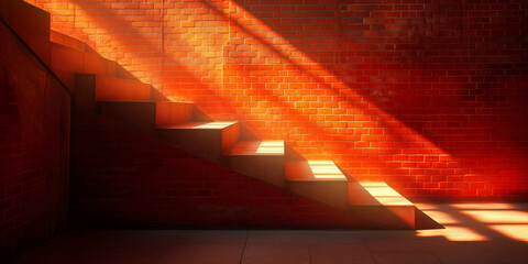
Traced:
<svg viewBox="0 0 528 264">
<path fill-rule="evenodd" d="M 157 135 L 155 101 L 99 101 L 101 114 L 117 119 L 150 135 Z"/>
</svg>

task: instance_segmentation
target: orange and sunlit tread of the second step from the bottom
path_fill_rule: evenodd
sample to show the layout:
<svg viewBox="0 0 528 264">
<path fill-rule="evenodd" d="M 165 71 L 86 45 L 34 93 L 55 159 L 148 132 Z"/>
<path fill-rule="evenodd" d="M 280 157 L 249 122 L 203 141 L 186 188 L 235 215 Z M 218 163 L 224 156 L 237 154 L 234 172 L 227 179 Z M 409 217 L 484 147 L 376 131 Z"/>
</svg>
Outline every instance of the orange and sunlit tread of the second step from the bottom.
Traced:
<svg viewBox="0 0 528 264">
<path fill-rule="evenodd" d="M 289 182 L 348 182 L 332 161 L 287 162 L 285 168 L 285 178 Z"/>
</svg>

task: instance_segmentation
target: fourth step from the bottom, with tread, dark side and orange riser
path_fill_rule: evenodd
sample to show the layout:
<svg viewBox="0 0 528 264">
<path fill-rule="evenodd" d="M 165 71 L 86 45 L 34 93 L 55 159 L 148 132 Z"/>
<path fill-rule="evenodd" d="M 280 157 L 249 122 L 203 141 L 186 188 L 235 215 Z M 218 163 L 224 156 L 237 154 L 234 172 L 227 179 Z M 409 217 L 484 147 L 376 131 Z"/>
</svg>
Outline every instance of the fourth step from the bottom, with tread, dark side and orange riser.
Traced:
<svg viewBox="0 0 528 264">
<path fill-rule="evenodd" d="M 228 122 L 186 122 L 158 128 L 162 139 L 190 153 L 220 163 L 222 152 L 239 139 L 240 124 Z"/>
</svg>

